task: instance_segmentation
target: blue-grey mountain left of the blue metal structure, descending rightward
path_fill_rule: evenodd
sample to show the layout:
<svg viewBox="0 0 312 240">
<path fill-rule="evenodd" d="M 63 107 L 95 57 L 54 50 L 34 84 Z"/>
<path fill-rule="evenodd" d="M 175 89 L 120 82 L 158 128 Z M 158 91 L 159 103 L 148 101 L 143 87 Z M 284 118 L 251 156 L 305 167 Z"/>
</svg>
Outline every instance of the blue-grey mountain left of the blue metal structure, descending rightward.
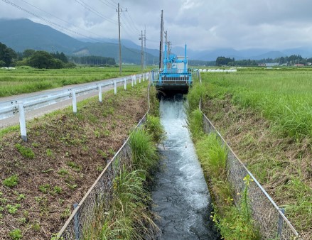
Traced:
<svg viewBox="0 0 312 240">
<path fill-rule="evenodd" d="M 110 43 L 87 43 L 60 33 L 49 26 L 34 23 L 28 19 L 0 20 L 0 42 L 18 52 L 26 49 L 63 52 L 66 55 L 97 55 L 118 60 L 119 46 L 115 40 Z M 115 42 L 115 43 L 114 43 Z M 141 47 L 124 40 L 122 45 L 122 62 L 141 63 Z M 146 51 L 147 52 L 147 51 Z M 146 54 L 149 62 L 158 60 L 158 56 Z"/>
</svg>

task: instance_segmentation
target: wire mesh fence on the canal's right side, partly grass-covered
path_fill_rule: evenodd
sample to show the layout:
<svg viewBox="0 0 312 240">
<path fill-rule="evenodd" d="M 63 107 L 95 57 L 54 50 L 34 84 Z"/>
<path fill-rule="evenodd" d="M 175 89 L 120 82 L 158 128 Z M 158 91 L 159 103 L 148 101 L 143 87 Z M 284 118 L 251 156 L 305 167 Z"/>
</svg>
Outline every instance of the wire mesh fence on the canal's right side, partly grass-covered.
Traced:
<svg viewBox="0 0 312 240">
<path fill-rule="evenodd" d="M 242 161 L 235 155 L 232 148 L 227 145 L 224 138 L 215 129 L 215 126 L 203 114 L 203 126 L 205 133 L 215 132 L 221 143 L 227 148 L 227 173 L 228 181 L 232 186 L 235 204 L 240 202 L 240 193 L 244 190 L 244 177 L 249 175 L 252 181 L 249 183 L 248 196 L 252 209 L 252 217 L 259 227 L 262 239 L 301 239 L 296 229 L 284 215 L 284 209 L 280 209 L 271 197 L 259 184 L 256 178 L 244 166 Z"/>
</svg>

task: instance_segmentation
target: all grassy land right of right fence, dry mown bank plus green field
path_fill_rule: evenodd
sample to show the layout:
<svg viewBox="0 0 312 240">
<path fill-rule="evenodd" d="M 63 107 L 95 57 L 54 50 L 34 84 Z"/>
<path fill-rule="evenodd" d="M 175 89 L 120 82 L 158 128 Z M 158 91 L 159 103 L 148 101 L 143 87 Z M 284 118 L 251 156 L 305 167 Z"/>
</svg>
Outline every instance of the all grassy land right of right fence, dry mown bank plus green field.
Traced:
<svg viewBox="0 0 312 240">
<path fill-rule="evenodd" d="M 203 97 L 203 112 L 305 239 L 312 234 L 311 73 L 203 73 L 190 94 L 191 109 Z"/>
</svg>

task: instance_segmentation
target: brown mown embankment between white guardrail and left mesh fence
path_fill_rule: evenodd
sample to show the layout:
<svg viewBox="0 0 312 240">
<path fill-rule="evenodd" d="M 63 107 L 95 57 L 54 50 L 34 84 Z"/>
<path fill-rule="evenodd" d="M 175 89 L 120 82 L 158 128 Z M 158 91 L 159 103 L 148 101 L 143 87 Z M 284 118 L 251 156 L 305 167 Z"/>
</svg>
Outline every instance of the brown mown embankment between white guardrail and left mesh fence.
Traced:
<svg viewBox="0 0 312 240">
<path fill-rule="evenodd" d="M 80 202 L 107 161 L 146 113 L 146 84 L 118 89 L 27 122 L 28 142 L 18 128 L 1 130 L 1 239 L 50 239 Z"/>
</svg>

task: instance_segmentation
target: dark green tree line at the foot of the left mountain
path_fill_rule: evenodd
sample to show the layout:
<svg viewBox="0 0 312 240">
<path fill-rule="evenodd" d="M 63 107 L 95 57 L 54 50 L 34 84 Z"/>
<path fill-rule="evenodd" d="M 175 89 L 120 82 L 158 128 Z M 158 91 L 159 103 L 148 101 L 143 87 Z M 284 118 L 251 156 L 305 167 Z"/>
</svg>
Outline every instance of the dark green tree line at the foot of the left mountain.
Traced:
<svg viewBox="0 0 312 240">
<path fill-rule="evenodd" d="M 43 50 L 26 49 L 23 53 L 0 43 L 0 67 L 31 66 L 36 68 L 72 68 L 80 65 L 116 65 L 114 58 L 99 56 L 67 57 L 63 52 L 48 53 Z"/>
</svg>

